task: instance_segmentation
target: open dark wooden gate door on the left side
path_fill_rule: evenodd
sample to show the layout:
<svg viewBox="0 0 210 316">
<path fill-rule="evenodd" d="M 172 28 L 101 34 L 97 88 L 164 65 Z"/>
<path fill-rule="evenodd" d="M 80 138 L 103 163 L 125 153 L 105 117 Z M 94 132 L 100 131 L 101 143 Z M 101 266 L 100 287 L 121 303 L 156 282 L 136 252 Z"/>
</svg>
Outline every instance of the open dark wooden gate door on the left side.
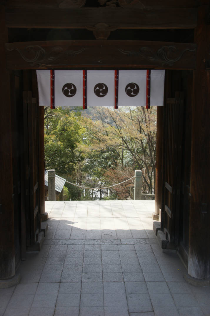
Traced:
<svg viewBox="0 0 210 316">
<path fill-rule="evenodd" d="M 30 91 L 23 92 L 24 165 L 26 190 L 26 245 L 33 246 L 40 232 L 39 108 Z"/>
</svg>

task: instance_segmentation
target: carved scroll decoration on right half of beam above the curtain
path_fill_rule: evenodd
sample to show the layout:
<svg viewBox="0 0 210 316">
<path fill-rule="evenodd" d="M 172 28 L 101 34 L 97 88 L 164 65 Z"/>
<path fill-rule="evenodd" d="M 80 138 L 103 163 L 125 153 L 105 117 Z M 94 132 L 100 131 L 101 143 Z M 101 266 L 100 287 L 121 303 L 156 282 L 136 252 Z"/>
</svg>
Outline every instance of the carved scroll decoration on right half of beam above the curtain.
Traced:
<svg viewBox="0 0 210 316">
<path fill-rule="evenodd" d="M 173 66 L 178 60 L 180 60 L 184 52 L 195 52 L 194 49 L 184 49 L 182 52 L 177 52 L 176 46 L 163 46 L 158 49 L 157 52 L 154 52 L 149 47 L 141 47 L 138 51 L 124 51 L 118 49 L 122 54 L 127 55 L 128 57 L 143 57 L 150 61 L 160 62 L 161 65 Z M 178 56 L 177 56 L 178 54 Z"/>
</svg>

